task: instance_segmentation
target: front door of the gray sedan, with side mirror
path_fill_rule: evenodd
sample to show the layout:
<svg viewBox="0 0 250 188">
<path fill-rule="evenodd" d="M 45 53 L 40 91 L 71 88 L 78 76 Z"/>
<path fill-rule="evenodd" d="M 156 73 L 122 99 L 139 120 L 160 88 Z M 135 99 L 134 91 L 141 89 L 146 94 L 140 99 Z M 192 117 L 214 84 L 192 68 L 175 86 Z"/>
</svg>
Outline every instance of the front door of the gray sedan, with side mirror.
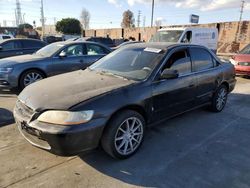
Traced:
<svg viewBox="0 0 250 188">
<path fill-rule="evenodd" d="M 60 57 L 59 54 L 63 52 L 65 57 Z M 71 72 L 79 69 L 84 69 L 87 64 L 85 63 L 85 47 L 83 44 L 71 44 L 61 50 L 55 57 L 50 65 L 52 68 L 52 75 Z"/>
</svg>

